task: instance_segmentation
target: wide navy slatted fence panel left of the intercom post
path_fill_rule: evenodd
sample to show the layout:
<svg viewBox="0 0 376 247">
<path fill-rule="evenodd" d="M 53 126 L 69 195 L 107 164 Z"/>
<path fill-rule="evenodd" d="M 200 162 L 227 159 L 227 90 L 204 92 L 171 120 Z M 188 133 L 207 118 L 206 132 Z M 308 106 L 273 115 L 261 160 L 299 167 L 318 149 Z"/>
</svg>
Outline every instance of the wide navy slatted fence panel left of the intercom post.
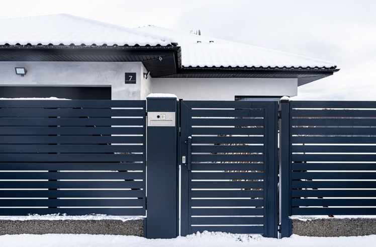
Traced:
<svg viewBox="0 0 376 247">
<path fill-rule="evenodd" d="M 0 215 L 145 215 L 145 121 L 145 101 L 0 101 Z"/>
</svg>

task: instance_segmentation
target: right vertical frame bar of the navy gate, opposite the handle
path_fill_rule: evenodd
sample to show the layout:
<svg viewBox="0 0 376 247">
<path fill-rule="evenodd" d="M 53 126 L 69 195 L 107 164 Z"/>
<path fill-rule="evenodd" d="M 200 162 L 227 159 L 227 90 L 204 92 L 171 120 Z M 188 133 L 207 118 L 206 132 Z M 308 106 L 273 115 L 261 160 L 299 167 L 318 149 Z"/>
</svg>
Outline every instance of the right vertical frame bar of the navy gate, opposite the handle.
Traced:
<svg viewBox="0 0 376 247">
<path fill-rule="evenodd" d="M 265 213 L 264 213 L 264 236 L 277 237 L 277 210 L 278 210 L 278 193 L 277 193 L 277 120 L 278 120 L 278 103 L 271 102 L 265 107 Z"/>
</svg>

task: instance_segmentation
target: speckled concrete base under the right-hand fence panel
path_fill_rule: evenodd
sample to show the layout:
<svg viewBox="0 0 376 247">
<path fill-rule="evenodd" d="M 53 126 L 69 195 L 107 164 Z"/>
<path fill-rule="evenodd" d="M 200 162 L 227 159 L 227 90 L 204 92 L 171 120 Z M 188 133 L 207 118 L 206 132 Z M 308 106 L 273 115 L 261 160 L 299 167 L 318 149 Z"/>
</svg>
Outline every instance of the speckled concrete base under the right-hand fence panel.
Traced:
<svg viewBox="0 0 376 247">
<path fill-rule="evenodd" d="M 372 235 L 376 234 L 376 218 L 293 219 L 293 234 L 317 237 Z"/>
</svg>

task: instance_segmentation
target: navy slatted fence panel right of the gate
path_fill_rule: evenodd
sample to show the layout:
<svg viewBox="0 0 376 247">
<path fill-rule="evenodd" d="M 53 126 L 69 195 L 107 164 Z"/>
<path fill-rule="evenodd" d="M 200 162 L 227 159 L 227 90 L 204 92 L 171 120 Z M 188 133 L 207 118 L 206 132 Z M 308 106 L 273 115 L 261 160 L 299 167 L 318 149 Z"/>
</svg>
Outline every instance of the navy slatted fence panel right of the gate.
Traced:
<svg viewBox="0 0 376 247">
<path fill-rule="evenodd" d="M 376 103 L 290 102 L 291 214 L 376 214 Z"/>
</svg>

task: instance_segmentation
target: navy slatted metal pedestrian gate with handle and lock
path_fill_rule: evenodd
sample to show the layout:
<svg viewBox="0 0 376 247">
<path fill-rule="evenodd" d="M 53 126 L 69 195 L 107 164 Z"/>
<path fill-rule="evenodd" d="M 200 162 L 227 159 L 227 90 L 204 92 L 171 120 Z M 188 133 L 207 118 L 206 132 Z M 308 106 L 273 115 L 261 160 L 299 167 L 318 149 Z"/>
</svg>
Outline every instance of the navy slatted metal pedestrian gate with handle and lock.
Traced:
<svg viewBox="0 0 376 247">
<path fill-rule="evenodd" d="M 277 104 L 181 102 L 181 235 L 276 237 Z"/>
</svg>

